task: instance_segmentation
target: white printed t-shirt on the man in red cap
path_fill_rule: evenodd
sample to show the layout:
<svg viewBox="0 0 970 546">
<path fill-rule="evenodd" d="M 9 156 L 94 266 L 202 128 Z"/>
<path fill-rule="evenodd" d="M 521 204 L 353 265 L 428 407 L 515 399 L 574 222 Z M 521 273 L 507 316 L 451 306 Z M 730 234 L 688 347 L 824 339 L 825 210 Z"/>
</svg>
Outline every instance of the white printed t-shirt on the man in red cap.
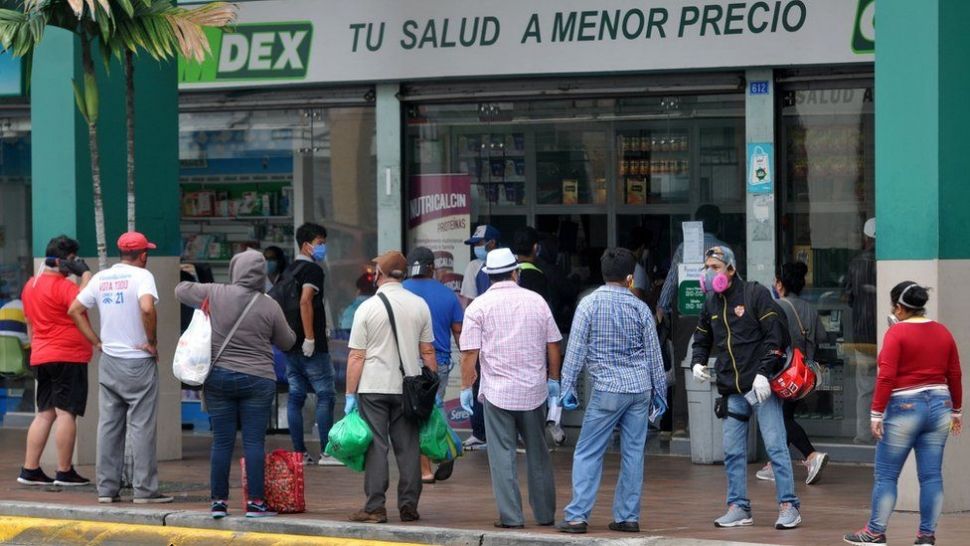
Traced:
<svg viewBox="0 0 970 546">
<path fill-rule="evenodd" d="M 98 307 L 101 317 L 101 350 L 115 358 L 149 358 L 142 349 L 148 343 L 138 300 L 151 295 L 158 302 L 155 277 L 147 269 L 115 264 L 97 272 L 77 299 L 87 308 Z"/>
</svg>

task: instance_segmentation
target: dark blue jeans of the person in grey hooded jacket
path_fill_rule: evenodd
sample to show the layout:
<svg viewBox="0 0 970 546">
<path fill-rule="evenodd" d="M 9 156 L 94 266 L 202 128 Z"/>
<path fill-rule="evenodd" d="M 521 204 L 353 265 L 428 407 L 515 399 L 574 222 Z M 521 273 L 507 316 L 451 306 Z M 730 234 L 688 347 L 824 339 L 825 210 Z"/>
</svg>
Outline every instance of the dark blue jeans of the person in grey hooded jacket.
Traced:
<svg viewBox="0 0 970 546">
<path fill-rule="evenodd" d="M 262 500 L 266 462 L 266 427 L 276 396 L 276 382 L 225 368 L 213 368 L 205 380 L 205 405 L 212 420 L 213 500 L 229 498 L 229 469 L 236 444 L 236 427 L 243 433 L 243 455 L 249 498 Z"/>
</svg>

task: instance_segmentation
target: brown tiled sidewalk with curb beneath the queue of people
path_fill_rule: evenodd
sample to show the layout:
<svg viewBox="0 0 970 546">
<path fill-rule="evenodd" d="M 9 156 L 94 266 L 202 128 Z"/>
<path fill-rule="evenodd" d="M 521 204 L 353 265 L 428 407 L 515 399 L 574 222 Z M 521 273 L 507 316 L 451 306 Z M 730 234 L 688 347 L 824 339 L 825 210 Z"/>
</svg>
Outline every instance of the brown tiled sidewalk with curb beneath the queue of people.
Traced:
<svg viewBox="0 0 970 546">
<path fill-rule="evenodd" d="M 760 544 L 834 544 L 841 534 L 862 527 L 868 517 L 872 469 L 865 466 L 829 465 L 824 479 L 815 486 L 799 482 L 804 523 L 791 531 L 776 531 L 777 515 L 774 487 L 758 481 L 757 465 L 749 466 L 749 495 L 754 505 L 755 526 L 739 529 L 716 529 L 712 521 L 724 511 L 724 469 L 721 466 L 692 465 L 681 457 L 648 456 L 645 472 L 641 534 L 629 535 L 609 531 L 610 503 L 618 472 L 618 457 L 607 455 L 599 503 L 593 511 L 590 533 L 571 537 L 555 529 L 538 527 L 526 512 L 523 531 L 499 531 L 492 527 L 496 519 L 494 499 L 484 451 L 466 452 L 446 482 L 425 485 L 419 511 L 421 521 L 402 525 L 397 519 L 395 498 L 396 475 L 392 470 L 388 492 L 387 525 L 360 525 L 346 522 L 346 516 L 359 509 L 364 501 L 363 474 L 343 467 L 309 466 L 306 468 L 307 513 L 247 521 L 241 517 L 239 466 L 232 467 L 230 484 L 231 517 L 221 522 L 208 517 L 209 437 L 186 434 L 183 438 L 182 461 L 162 463 L 160 477 L 163 492 L 176 497 L 176 502 L 141 509 L 128 503 L 99 505 L 94 486 L 81 488 L 35 488 L 16 482 L 23 459 L 25 431 L 0 429 L 0 514 L 44 518 L 87 519 L 123 523 L 172 525 L 208 529 L 263 531 L 345 538 L 371 538 L 434 544 L 701 544 L 703 540 L 738 541 Z M 287 448 L 288 436 L 270 436 L 267 449 Z M 311 451 L 316 446 L 311 444 Z M 120 454 L 119 454 L 120 455 Z M 235 457 L 241 455 L 238 448 Z M 569 500 L 572 453 L 554 452 L 557 508 Z M 525 485 L 524 457 L 520 457 L 520 482 L 523 501 L 528 504 Z M 393 464 L 392 464 L 393 469 Z M 45 469 L 52 474 L 54 469 Z M 94 468 L 78 467 L 83 476 L 94 478 Z M 795 471 L 804 480 L 804 469 Z M 130 499 L 130 492 L 123 497 Z M 890 523 L 889 542 L 910 544 L 915 536 L 918 515 L 897 513 Z M 966 514 L 946 514 L 940 522 L 939 544 L 958 544 L 959 537 L 970 535 L 970 518 Z M 653 538 L 651 538 L 653 537 Z M 666 537 L 662 540 L 656 537 Z M 574 541 L 574 539 L 581 539 Z M 605 540 L 590 540 L 605 539 Z M 695 539 L 695 540 L 691 540 Z"/>
</svg>

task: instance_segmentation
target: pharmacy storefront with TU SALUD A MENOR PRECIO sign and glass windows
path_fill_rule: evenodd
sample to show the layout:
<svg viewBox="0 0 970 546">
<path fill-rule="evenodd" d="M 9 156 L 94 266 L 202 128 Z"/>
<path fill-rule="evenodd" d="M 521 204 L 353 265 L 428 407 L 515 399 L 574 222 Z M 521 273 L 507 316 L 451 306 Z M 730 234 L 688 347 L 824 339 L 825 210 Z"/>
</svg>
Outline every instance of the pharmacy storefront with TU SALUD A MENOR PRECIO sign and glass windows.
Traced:
<svg viewBox="0 0 970 546">
<path fill-rule="evenodd" d="M 378 250 L 431 246 L 457 285 L 474 226 L 507 244 L 530 225 L 568 329 L 604 248 L 644 249 L 659 292 L 682 222 L 713 205 L 746 278 L 808 266 L 828 334 L 809 433 L 871 441 L 875 2 L 590 8 L 241 3 L 212 58 L 179 67 L 183 261 L 219 279 L 246 246 L 292 258 L 293 226 L 320 221 L 340 330 Z M 678 359 L 688 303 L 672 302 Z"/>
</svg>

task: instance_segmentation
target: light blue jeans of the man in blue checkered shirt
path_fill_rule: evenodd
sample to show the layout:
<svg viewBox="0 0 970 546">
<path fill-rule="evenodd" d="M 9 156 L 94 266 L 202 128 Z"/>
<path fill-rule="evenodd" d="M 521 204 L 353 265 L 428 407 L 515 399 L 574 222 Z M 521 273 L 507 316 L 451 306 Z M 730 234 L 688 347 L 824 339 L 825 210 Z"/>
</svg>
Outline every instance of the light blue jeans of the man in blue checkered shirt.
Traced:
<svg viewBox="0 0 970 546">
<path fill-rule="evenodd" d="M 650 401 L 650 393 L 593 391 L 573 452 L 573 498 L 564 510 L 566 521 L 589 522 L 603 477 L 603 455 L 617 425 L 620 427 L 620 475 L 613 495 L 613 521 L 640 521 Z"/>
</svg>

